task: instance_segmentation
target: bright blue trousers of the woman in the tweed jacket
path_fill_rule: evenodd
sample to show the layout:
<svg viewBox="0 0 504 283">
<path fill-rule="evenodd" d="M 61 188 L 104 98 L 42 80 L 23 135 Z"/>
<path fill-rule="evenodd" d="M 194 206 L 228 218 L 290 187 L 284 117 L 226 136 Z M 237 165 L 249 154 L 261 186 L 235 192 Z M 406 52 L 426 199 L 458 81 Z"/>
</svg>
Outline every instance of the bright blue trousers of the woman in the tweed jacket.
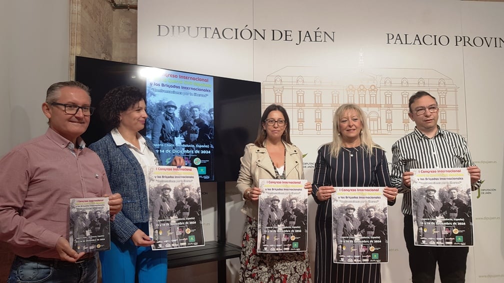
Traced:
<svg viewBox="0 0 504 283">
<path fill-rule="evenodd" d="M 149 235 L 149 223 L 136 224 Z M 153 251 L 151 247 L 137 247 L 130 239 L 121 244 L 110 240 L 110 250 L 100 252 L 103 283 L 164 283 L 168 273 L 166 250 Z"/>
</svg>

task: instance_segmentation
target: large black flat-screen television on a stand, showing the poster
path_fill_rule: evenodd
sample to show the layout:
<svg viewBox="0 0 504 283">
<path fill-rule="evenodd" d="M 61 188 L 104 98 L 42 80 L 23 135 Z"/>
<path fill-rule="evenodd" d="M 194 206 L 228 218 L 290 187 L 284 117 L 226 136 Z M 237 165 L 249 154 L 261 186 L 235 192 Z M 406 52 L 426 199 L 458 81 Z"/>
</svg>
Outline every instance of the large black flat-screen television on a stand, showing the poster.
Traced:
<svg viewBox="0 0 504 283">
<path fill-rule="evenodd" d="M 99 103 L 118 86 L 131 85 L 146 93 L 146 127 L 163 165 L 182 156 L 198 168 L 200 181 L 236 181 L 244 146 L 255 140 L 261 119 L 261 84 L 76 56 L 75 80 L 90 88 L 97 107 L 87 144 L 103 137 Z"/>
</svg>

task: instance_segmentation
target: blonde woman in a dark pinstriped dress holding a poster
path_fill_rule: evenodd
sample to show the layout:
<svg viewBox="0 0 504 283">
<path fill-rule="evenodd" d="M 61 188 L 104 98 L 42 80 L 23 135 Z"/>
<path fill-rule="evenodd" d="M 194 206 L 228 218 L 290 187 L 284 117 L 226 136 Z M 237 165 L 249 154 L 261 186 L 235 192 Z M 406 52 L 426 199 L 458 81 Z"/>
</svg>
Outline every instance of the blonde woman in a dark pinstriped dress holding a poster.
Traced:
<svg viewBox="0 0 504 283">
<path fill-rule="evenodd" d="M 312 196 L 319 205 L 315 218 L 315 282 L 381 282 L 379 263 L 333 263 L 333 186 L 385 187 L 389 205 L 394 205 L 397 195 L 397 188 L 390 188 L 385 151 L 373 143 L 365 113 L 359 106 L 344 104 L 336 110 L 333 142 L 319 149 L 312 186 Z"/>
</svg>

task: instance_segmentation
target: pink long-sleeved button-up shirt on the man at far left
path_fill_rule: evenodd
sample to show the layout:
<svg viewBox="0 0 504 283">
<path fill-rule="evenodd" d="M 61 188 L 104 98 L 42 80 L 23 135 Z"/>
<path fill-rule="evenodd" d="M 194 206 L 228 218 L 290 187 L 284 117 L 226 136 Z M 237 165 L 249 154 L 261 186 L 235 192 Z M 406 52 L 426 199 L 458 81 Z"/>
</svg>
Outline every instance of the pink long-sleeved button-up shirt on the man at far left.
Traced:
<svg viewBox="0 0 504 283">
<path fill-rule="evenodd" d="M 0 240 L 19 256 L 59 258 L 54 247 L 69 239 L 70 199 L 111 193 L 100 158 L 85 147 L 72 153 L 69 144 L 49 128 L 0 160 Z"/>
</svg>

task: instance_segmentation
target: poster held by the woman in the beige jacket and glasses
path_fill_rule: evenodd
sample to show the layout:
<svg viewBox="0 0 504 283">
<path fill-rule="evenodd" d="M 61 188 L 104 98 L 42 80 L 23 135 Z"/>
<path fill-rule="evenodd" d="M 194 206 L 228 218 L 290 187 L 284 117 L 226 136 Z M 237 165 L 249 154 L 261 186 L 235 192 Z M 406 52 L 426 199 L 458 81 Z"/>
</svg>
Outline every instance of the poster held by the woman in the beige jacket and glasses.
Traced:
<svg viewBox="0 0 504 283">
<path fill-rule="evenodd" d="M 307 243 L 306 180 L 259 180 L 258 252 L 301 252 Z"/>
</svg>

